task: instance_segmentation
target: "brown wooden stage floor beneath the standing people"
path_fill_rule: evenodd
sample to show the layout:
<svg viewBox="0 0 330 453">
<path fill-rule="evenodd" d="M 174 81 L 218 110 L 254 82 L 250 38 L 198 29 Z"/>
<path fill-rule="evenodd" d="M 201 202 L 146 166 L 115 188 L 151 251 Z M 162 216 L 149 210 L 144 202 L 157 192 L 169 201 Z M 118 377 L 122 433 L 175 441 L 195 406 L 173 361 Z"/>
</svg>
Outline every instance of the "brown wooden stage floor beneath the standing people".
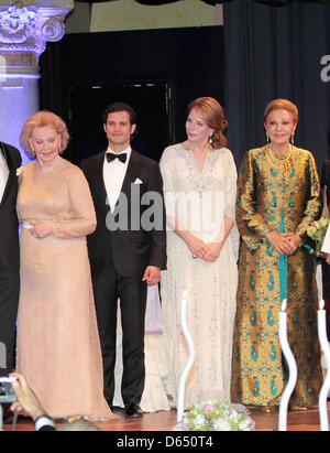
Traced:
<svg viewBox="0 0 330 453">
<path fill-rule="evenodd" d="M 330 410 L 330 402 L 328 402 Z M 278 413 L 264 413 L 258 409 L 251 409 L 251 417 L 255 421 L 256 431 L 277 431 Z M 329 413 L 330 420 L 330 413 Z M 288 431 L 319 431 L 319 411 L 316 407 L 308 411 L 294 411 L 288 413 Z M 96 423 L 105 431 L 170 431 L 176 423 L 176 411 L 162 411 L 145 413 L 140 419 L 118 418 L 107 423 Z M 11 431 L 11 425 L 4 425 L 4 431 Z M 34 425 L 30 421 L 20 421 L 16 431 L 33 431 Z"/>
</svg>

